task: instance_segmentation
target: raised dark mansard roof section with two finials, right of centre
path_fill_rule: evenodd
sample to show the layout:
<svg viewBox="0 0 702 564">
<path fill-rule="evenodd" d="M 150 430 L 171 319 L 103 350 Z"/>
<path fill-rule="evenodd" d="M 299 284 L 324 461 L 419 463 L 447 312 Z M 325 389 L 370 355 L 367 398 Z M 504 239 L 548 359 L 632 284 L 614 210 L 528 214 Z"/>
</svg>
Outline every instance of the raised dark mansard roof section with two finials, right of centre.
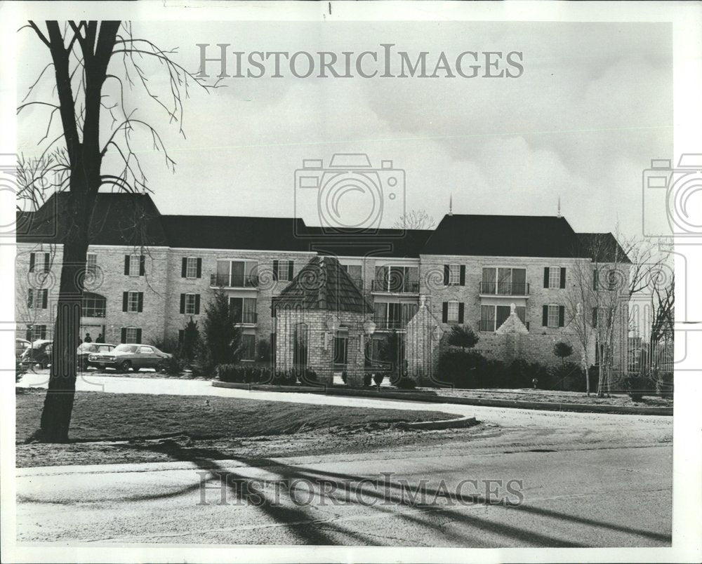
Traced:
<svg viewBox="0 0 702 564">
<path fill-rule="evenodd" d="M 423 255 L 572 257 L 578 238 L 563 217 L 445 215 Z"/>
</svg>

